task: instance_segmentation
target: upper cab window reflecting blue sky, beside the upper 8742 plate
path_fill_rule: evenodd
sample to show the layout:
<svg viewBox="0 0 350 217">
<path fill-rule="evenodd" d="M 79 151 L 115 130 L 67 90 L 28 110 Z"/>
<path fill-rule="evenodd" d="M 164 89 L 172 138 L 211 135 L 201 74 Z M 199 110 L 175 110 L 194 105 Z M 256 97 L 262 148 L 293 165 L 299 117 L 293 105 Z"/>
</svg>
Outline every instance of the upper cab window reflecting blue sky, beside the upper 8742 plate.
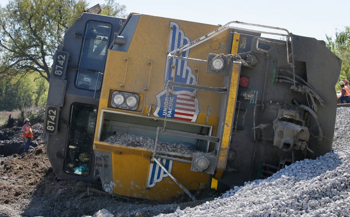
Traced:
<svg viewBox="0 0 350 217">
<path fill-rule="evenodd" d="M 75 85 L 87 90 L 101 88 L 111 26 L 88 22 Z"/>
</svg>

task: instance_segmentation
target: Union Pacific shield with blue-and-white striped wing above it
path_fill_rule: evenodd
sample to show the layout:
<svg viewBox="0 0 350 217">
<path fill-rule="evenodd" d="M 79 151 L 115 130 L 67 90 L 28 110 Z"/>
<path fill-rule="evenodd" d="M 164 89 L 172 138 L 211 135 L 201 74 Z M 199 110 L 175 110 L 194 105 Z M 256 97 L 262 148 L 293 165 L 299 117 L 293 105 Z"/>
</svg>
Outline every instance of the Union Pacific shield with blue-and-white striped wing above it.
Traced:
<svg viewBox="0 0 350 217">
<path fill-rule="evenodd" d="M 172 28 L 169 36 L 168 52 L 191 42 L 177 23 L 170 22 L 170 26 Z M 186 50 L 181 53 L 181 56 L 189 57 L 189 52 L 189 50 Z M 188 66 L 187 60 L 171 59 L 168 70 L 167 80 L 197 84 L 197 79 L 192 73 L 192 68 Z M 156 95 L 157 107 L 153 115 L 195 122 L 199 113 L 199 101 L 195 96 L 195 90 L 177 86 L 173 86 L 171 89 L 171 95 L 168 97 L 165 89 Z"/>
</svg>

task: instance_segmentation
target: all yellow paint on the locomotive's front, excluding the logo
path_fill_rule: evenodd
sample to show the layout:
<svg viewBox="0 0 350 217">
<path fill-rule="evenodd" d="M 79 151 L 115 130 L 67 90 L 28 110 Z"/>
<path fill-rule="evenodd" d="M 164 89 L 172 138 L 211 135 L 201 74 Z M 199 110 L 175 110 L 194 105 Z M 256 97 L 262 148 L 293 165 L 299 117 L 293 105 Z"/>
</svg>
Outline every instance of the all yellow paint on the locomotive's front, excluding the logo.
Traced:
<svg viewBox="0 0 350 217">
<path fill-rule="evenodd" d="M 185 35 L 191 40 L 197 39 L 217 26 L 201 23 L 188 22 L 183 20 L 174 20 L 163 17 L 153 17 L 147 15 L 140 16 L 134 35 L 131 39 L 127 51 L 108 50 L 105 66 L 104 81 L 100 96 L 99 111 L 97 120 L 104 120 L 101 117 L 101 110 L 111 110 L 123 112 L 125 114 L 137 114 L 147 116 L 149 105 L 156 105 L 156 95 L 164 89 L 164 70 L 167 58 L 167 47 L 169 39 L 169 24 L 171 21 L 179 24 Z M 227 54 L 227 42 L 229 31 L 218 34 L 215 38 L 203 42 L 201 45 L 190 50 L 190 57 L 206 60 L 208 53 Z M 220 47 L 219 47 L 220 45 Z M 221 45 L 225 45 L 226 50 L 221 50 Z M 150 62 L 152 64 L 150 64 Z M 224 76 L 206 72 L 206 63 L 189 62 L 193 75 L 200 78 L 199 84 L 203 86 L 222 87 Z M 194 72 L 196 70 L 196 72 Z M 238 73 L 239 74 L 239 73 Z M 233 71 L 230 91 L 234 93 L 237 89 L 237 75 Z M 147 88 L 147 89 L 145 89 Z M 140 96 L 140 106 L 136 111 L 125 111 L 111 108 L 110 96 L 113 91 L 126 91 L 137 93 Z M 196 97 L 199 100 L 199 110 L 196 123 L 206 124 L 207 108 L 210 107 L 209 125 L 213 126 L 212 135 L 216 135 L 222 94 L 209 91 L 198 91 Z M 227 114 L 234 112 L 235 96 L 229 99 Z M 152 109 L 151 115 L 153 116 Z M 227 122 L 229 117 L 227 117 Z M 229 145 L 229 126 L 225 129 L 224 146 L 220 150 L 220 159 L 224 161 L 225 153 Z M 163 200 L 179 194 L 183 190 L 175 184 L 170 177 L 165 177 L 161 182 L 152 188 L 147 188 L 148 173 L 151 165 L 151 150 L 127 147 L 117 144 L 108 144 L 97 141 L 100 138 L 99 133 L 103 129 L 104 123 L 97 121 L 94 150 L 110 152 L 112 155 L 112 173 L 113 173 L 113 193 L 127 197 L 145 198 L 152 200 Z M 226 151 L 226 152 L 225 152 Z M 187 159 L 192 160 L 192 159 Z M 225 169 L 220 162 L 219 169 Z M 173 161 L 171 173 L 175 179 L 188 190 L 199 190 L 200 187 L 207 185 L 209 187 L 211 175 L 200 172 L 192 172 L 191 164 Z M 215 185 L 215 181 L 213 183 Z M 216 184 L 217 186 L 217 184 Z"/>
</svg>

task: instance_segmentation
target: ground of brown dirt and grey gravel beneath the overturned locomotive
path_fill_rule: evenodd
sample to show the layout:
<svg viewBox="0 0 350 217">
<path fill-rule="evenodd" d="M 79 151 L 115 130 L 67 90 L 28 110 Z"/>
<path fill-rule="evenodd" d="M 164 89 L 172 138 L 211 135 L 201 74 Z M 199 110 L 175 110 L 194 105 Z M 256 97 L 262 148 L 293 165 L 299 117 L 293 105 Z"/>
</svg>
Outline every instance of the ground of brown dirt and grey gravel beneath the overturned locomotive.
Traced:
<svg viewBox="0 0 350 217">
<path fill-rule="evenodd" d="M 0 156 L 0 216 L 350 217 L 349 117 L 350 108 L 337 108 L 331 152 L 195 201 L 123 199 L 102 192 L 100 185 L 55 180 L 38 139 L 29 154 Z"/>
</svg>

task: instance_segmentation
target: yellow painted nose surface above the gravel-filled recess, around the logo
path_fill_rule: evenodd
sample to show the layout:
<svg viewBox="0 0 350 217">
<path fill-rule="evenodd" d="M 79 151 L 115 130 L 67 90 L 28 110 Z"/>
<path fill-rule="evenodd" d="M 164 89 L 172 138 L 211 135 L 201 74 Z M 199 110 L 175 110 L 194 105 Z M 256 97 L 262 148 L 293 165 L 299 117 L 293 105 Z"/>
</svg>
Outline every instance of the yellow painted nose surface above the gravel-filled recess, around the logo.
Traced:
<svg viewBox="0 0 350 217">
<path fill-rule="evenodd" d="M 127 52 L 108 50 L 103 90 L 99 105 L 101 109 L 107 108 L 109 89 L 144 94 L 141 105 L 137 110 L 139 113 L 146 114 L 149 104 L 157 104 L 155 95 L 164 89 L 164 70 L 169 38 L 169 24 L 171 21 L 178 23 L 181 30 L 192 40 L 217 28 L 214 25 L 164 17 L 139 16 L 139 24 Z M 206 60 L 210 52 L 226 52 L 225 50 L 217 50 L 217 47 L 212 49 L 210 44 L 223 43 L 227 46 L 228 36 L 228 31 L 221 33 L 218 37 L 191 49 L 190 57 Z M 128 61 L 125 61 L 125 58 Z M 152 65 L 149 65 L 149 62 L 152 62 Z M 224 76 L 207 73 L 206 63 L 189 62 L 189 66 L 192 68 L 192 73 L 200 78 L 200 85 L 222 86 Z M 198 73 L 194 72 L 196 68 L 199 69 Z M 147 91 L 144 89 L 146 87 L 148 87 Z M 210 106 L 210 121 L 213 118 L 214 121 L 212 122 L 215 122 L 213 125 L 217 125 L 221 94 L 198 91 L 197 97 L 200 100 L 199 110 L 201 112 L 196 122 L 205 124 L 207 107 Z"/>
</svg>

